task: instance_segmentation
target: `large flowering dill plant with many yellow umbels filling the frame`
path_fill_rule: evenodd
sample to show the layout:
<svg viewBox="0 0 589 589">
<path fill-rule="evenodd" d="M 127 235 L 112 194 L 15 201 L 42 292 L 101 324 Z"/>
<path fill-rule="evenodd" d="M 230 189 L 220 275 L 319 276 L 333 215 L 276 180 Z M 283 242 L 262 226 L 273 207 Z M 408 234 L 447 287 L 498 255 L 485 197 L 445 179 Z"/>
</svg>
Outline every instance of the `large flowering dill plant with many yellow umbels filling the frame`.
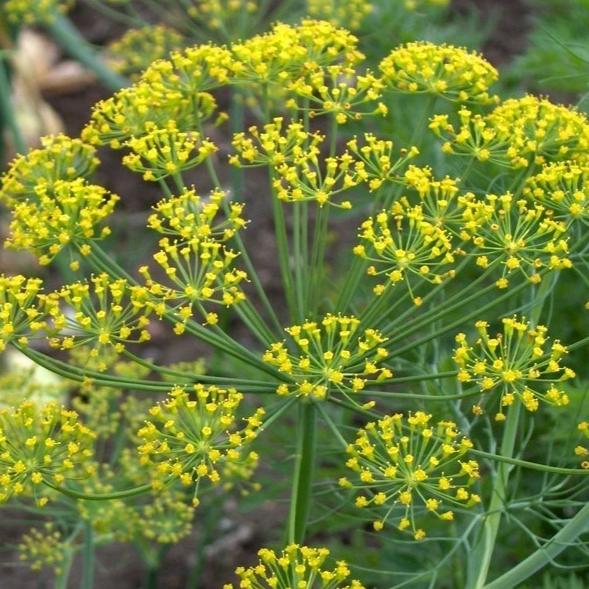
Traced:
<svg viewBox="0 0 589 589">
<path fill-rule="evenodd" d="M 154 62 L 80 139 L 13 162 L 6 246 L 77 278 L 0 279 L 2 347 L 78 387 L 77 412 L 27 400 L 0 414 L 0 499 L 50 520 L 23 537 L 23 559 L 66 587 L 81 553 L 89 589 L 96 547 L 124 541 L 153 587 L 158 544 L 215 500 L 273 497 L 256 466 L 279 471 L 285 432 L 277 548 L 228 587 L 503 589 L 584 554 L 588 427 L 567 381 L 589 340 L 561 343 L 549 311 L 561 273 L 587 288 L 589 122 L 535 96 L 502 101 L 497 78 L 481 55 L 425 42 L 370 71 L 349 31 L 277 24 Z M 226 87 L 249 106 L 229 131 Z M 425 107 L 407 145 L 380 132 L 401 101 Z M 119 263 L 107 222 L 120 199 L 91 180 L 99 146 L 161 190 L 147 263 Z M 192 186 L 197 168 L 207 179 Z M 248 190 L 248 173 L 266 188 Z M 254 263 L 253 199 L 273 219 L 277 297 Z M 146 358 L 155 324 L 213 350 L 214 372 Z M 566 440 L 554 451 L 533 429 L 548 412 Z M 375 566 L 354 550 L 342 561 L 341 534 L 317 534 L 331 526 L 359 529 Z M 515 566 L 496 557 L 508 534 L 537 544 Z"/>
</svg>

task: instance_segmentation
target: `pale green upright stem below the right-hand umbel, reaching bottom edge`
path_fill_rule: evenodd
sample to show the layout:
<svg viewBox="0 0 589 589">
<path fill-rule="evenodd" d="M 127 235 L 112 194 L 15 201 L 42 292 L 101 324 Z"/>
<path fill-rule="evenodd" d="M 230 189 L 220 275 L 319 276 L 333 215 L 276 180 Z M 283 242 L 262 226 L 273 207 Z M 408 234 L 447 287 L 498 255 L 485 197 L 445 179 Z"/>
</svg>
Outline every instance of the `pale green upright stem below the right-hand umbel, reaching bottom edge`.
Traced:
<svg viewBox="0 0 589 589">
<path fill-rule="evenodd" d="M 520 410 L 521 403 L 515 403 L 507 413 L 500 450 L 501 456 L 506 458 L 513 456 Z M 506 504 L 509 473 L 512 468 L 512 465 L 502 462 L 497 470 L 496 479 L 493 481 L 493 496 L 487 510 L 488 515 L 484 520 L 482 533 L 475 544 L 474 552 L 469 558 L 468 589 L 482 589 L 487 580 L 501 516 Z"/>
</svg>

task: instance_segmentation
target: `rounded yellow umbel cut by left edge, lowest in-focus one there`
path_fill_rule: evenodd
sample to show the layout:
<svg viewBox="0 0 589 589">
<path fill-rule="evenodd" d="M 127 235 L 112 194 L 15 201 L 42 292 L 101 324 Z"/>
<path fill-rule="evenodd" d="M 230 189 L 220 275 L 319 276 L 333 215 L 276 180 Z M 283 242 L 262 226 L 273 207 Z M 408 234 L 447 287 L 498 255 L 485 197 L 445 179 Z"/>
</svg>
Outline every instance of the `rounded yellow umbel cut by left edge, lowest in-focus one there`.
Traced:
<svg viewBox="0 0 589 589">
<path fill-rule="evenodd" d="M 0 503 L 27 496 L 45 505 L 46 485 L 90 476 L 94 438 L 75 411 L 54 403 L 0 409 Z"/>
</svg>

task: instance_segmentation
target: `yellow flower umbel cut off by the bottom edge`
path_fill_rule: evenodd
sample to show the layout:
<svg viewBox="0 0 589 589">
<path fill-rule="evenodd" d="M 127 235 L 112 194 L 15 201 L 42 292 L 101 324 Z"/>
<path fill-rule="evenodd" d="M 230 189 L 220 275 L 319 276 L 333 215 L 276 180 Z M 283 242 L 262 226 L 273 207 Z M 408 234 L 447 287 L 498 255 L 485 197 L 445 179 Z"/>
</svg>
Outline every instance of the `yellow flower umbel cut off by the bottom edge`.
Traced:
<svg viewBox="0 0 589 589">
<path fill-rule="evenodd" d="M 258 551 L 257 565 L 239 567 L 235 574 L 241 579 L 244 589 L 364 589 L 356 580 L 350 580 L 350 569 L 343 561 L 335 568 L 323 568 L 329 556 L 327 548 L 310 548 L 289 544 L 277 554 L 268 548 Z M 224 585 L 223 589 L 234 589 Z"/>
</svg>

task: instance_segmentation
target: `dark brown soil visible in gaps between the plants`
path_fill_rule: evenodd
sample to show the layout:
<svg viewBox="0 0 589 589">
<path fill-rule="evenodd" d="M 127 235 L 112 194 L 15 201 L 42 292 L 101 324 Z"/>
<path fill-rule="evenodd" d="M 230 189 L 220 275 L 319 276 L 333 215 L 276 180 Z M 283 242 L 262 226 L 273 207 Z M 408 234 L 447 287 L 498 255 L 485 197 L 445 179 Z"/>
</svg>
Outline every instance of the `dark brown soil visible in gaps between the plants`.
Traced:
<svg viewBox="0 0 589 589">
<path fill-rule="evenodd" d="M 456 11 L 464 11 L 476 6 L 484 15 L 483 18 L 496 18 L 497 24 L 493 34 L 484 47 L 484 53 L 495 64 L 508 62 L 510 58 L 525 47 L 526 7 L 519 0 L 455 0 L 453 7 Z M 98 45 L 119 34 L 120 28 L 101 19 L 96 14 L 80 4 L 72 14 L 73 20 L 79 26 L 87 39 Z M 88 120 L 91 106 L 97 100 L 108 95 L 99 85 L 91 85 L 69 94 L 48 96 L 47 99 L 62 117 L 69 134 L 76 135 Z M 153 187 L 141 189 L 137 187 L 134 175 L 123 169 L 118 163 L 119 156 L 114 152 L 105 151 L 102 154 L 103 170 L 99 180 L 113 192 L 124 197 L 122 206 L 125 212 L 137 222 L 145 218 L 144 211 L 153 204 L 159 194 Z M 255 192 L 255 180 L 246 190 Z M 268 211 L 263 206 L 250 209 L 248 217 L 255 219 L 255 224 L 248 230 L 256 236 L 254 262 L 261 268 L 262 281 L 272 290 L 276 284 L 276 263 L 273 255 L 273 237 Z M 162 351 L 164 350 L 164 351 Z M 162 345 L 155 340 L 152 350 L 148 353 L 156 356 L 158 361 L 176 361 L 188 359 L 194 355 L 194 350 L 186 350 L 180 346 Z M 237 563 L 250 562 L 257 548 L 263 544 L 265 534 L 273 521 L 280 521 L 282 508 L 276 505 L 265 506 L 262 513 L 256 512 L 255 517 L 238 515 L 231 506 L 226 506 L 226 512 L 218 521 L 218 540 L 207 549 L 205 574 L 201 587 L 203 589 L 218 589 L 223 582 L 231 578 L 231 571 Z M 14 562 L 13 555 L 6 547 L 13 546 L 21 533 L 19 526 L 3 525 L 0 527 L 0 589 L 49 589 L 52 587 L 51 578 L 38 576 L 28 572 L 23 567 L 2 566 L 1 563 Z M 181 542 L 165 556 L 164 566 L 158 586 L 166 589 L 180 589 L 186 586 L 191 566 L 194 563 L 198 545 L 197 531 L 188 539 Z M 78 587 L 80 564 L 74 564 L 70 589 Z M 138 589 L 143 587 L 144 579 L 141 564 L 137 556 L 125 546 L 111 546 L 98 553 L 97 589 Z"/>
</svg>

